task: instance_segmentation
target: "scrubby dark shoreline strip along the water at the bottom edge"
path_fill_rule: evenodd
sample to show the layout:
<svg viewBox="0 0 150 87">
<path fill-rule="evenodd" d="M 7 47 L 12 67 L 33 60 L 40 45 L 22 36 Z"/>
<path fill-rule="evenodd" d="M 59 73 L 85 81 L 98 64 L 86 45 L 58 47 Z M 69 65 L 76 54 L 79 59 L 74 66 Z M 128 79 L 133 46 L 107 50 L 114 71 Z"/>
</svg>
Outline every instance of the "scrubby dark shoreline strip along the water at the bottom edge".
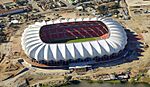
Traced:
<svg viewBox="0 0 150 87">
<path fill-rule="evenodd" d="M 94 83 L 98 83 L 98 84 L 103 84 L 103 83 L 109 83 L 109 84 L 145 84 L 145 85 L 150 85 L 150 83 L 148 82 L 141 82 L 141 81 L 134 81 L 134 82 L 131 82 L 131 81 L 127 81 L 127 82 L 124 82 L 122 83 L 120 80 L 108 80 L 108 81 L 102 81 L 102 80 L 70 80 L 70 81 L 65 81 L 63 80 L 62 82 L 59 81 L 59 83 L 55 83 L 55 84 L 48 84 L 48 83 L 40 83 L 38 84 L 39 87 L 67 87 L 69 85 L 79 85 L 81 84 L 82 82 L 86 82 L 88 84 L 94 84 Z M 37 85 L 36 85 L 37 86 Z M 35 87 L 34 86 L 31 86 L 31 87 Z"/>
</svg>

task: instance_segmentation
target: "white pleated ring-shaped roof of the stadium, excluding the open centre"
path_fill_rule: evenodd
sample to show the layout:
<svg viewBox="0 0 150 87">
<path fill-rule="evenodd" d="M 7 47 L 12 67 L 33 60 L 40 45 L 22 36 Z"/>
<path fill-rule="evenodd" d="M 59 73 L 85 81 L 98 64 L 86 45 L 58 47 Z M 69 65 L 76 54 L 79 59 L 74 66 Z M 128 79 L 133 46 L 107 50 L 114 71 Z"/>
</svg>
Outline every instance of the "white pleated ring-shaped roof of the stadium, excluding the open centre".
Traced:
<svg viewBox="0 0 150 87">
<path fill-rule="evenodd" d="M 44 43 L 39 35 L 42 26 L 79 21 L 101 21 L 109 29 L 109 37 L 106 39 L 77 42 L 77 43 Z M 87 57 L 94 58 L 95 56 L 111 55 L 118 53 L 125 48 L 127 44 L 127 36 L 124 28 L 112 19 L 101 18 L 84 18 L 84 19 L 70 19 L 70 20 L 56 20 L 48 22 L 36 22 L 29 25 L 22 34 L 22 48 L 25 53 L 37 61 L 40 60 L 69 60 Z"/>
</svg>

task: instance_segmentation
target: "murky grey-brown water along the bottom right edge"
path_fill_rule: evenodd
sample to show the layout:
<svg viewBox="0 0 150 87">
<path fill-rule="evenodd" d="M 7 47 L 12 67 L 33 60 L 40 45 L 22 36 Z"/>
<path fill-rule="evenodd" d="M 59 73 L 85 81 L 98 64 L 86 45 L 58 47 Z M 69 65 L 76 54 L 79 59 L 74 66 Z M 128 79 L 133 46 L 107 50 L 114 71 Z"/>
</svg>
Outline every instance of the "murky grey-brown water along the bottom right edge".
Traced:
<svg viewBox="0 0 150 87">
<path fill-rule="evenodd" d="M 146 83 L 88 83 L 86 81 L 82 81 L 79 84 L 71 84 L 64 87 L 150 87 L 149 84 Z"/>
</svg>

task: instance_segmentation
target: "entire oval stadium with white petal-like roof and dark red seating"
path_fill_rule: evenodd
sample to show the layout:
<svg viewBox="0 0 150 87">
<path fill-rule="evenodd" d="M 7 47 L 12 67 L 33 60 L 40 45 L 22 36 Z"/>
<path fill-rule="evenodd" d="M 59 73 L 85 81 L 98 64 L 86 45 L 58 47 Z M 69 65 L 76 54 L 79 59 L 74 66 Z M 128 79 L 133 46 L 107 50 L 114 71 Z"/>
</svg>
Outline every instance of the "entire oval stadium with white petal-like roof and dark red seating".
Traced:
<svg viewBox="0 0 150 87">
<path fill-rule="evenodd" d="M 127 44 L 124 28 L 110 18 L 36 22 L 24 30 L 21 40 L 31 65 L 46 66 L 110 61 Z"/>
</svg>

